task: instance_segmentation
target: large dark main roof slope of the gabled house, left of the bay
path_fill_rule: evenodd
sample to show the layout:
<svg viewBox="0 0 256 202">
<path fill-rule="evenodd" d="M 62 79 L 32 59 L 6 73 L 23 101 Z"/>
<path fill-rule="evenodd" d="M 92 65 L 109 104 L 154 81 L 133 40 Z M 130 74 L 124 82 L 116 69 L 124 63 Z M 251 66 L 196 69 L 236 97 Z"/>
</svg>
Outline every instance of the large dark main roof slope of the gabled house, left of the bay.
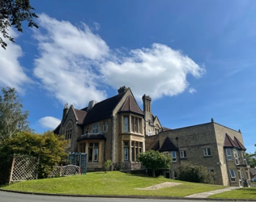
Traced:
<svg viewBox="0 0 256 202">
<path fill-rule="evenodd" d="M 112 98 L 105 99 L 100 103 L 96 103 L 91 110 L 87 111 L 87 115 L 83 120 L 83 124 L 91 124 L 92 122 L 111 117 L 114 108 L 117 106 L 117 103 L 120 102 L 124 95 L 125 92 L 119 95 L 115 95 Z"/>
</svg>

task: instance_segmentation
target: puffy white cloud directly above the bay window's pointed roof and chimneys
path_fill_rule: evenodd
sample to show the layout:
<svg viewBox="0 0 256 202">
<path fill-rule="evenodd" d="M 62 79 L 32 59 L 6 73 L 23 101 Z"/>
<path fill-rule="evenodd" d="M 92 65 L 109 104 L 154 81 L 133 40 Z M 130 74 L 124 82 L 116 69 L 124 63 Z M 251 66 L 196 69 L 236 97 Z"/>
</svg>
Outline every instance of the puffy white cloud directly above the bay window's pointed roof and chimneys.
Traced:
<svg viewBox="0 0 256 202">
<path fill-rule="evenodd" d="M 130 51 L 129 57 L 116 57 L 101 65 L 105 82 L 113 88 L 130 86 L 137 99 L 143 94 L 152 99 L 181 94 L 189 85 L 188 74 L 199 78 L 204 68 L 180 51 L 164 44 Z"/>
</svg>

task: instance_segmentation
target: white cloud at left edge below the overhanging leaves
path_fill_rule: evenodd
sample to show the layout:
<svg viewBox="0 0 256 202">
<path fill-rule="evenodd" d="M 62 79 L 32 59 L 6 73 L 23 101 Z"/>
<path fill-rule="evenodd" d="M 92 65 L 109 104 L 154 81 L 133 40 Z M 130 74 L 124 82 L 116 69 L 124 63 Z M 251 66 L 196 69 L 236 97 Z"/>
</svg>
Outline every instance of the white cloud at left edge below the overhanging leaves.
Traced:
<svg viewBox="0 0 256 202">
<path fill-rule="evenodd" d="M 9 28 L 10 36 L 17 38 L 18 34 Z M 1 35 L 2 37 L 2 35 Z M 24 73 L 23 66 L 19 64 L 19 57 L 23 56 L 22 49 L 18 44 L 3 38 L 6 41 L 6 50 L 0 47 L 0 86 L 15 87 L 23 92 L 23 85 L 32 82 Z"/>
</svg>

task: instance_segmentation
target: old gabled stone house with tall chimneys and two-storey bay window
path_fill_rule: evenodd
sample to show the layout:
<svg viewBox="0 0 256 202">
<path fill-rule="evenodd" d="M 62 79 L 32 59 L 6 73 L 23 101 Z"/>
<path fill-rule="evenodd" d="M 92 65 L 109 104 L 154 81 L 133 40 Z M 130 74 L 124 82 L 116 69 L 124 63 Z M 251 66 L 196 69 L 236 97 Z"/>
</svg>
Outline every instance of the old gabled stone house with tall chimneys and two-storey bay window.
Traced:
<svg viewBox="0 0 256 202">
<path fill-rule="evenodd" d="M 151 114 L 151 98 L 143 95 L 143 111 L 130 88 L 120 87 L 118 95 L 88 107 L 76 109 L 67 104 L 62 122 L 54 133 L 70 141 L 67 151 L 87 153 L 87 170 L 103 170 L 106 160 L 135 164 L 137 154 L 145 151 L 145 136 L 163 130 Z M 138 163 L 137 163 L 138 164 Z"/>
</svg>

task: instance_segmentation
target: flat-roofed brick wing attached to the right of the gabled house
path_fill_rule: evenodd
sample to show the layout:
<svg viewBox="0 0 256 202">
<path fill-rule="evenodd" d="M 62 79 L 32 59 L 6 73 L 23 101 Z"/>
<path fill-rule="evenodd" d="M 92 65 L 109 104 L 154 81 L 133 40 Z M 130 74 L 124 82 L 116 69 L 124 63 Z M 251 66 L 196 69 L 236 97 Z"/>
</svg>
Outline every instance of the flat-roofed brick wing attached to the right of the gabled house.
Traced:
<svg viewBox="0 0 256 202">
<path fill-rule="evenodd" d="M 250 185 L 249 165 L 245 159 L 241 131 L 235 131 L 211 120 L 185 128 L 170 129 L 146 137 L 146 150 L 155 149 L 173 158 L 171 170 L 163 174 L 176 178 L 180 162 L 197 162 L 214 172 L 215 183 L 225 186 Z"/>
</svg>

